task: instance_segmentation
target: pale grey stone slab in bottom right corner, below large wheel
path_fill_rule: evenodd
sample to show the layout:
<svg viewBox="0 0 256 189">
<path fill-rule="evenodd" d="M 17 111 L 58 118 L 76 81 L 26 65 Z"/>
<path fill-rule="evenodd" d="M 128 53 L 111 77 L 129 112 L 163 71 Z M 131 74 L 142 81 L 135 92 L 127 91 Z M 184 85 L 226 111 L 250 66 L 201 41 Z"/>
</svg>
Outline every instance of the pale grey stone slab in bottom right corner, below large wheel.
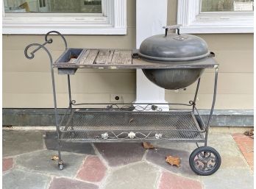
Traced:
<svg viewBox="0 0 256 189">
<path fill-rule="evenodd" d="M 253 189 L 253 175 L 249 168 L 219 169 L 216 174 L 199 178 L 205 189 Z"/>
</svg>

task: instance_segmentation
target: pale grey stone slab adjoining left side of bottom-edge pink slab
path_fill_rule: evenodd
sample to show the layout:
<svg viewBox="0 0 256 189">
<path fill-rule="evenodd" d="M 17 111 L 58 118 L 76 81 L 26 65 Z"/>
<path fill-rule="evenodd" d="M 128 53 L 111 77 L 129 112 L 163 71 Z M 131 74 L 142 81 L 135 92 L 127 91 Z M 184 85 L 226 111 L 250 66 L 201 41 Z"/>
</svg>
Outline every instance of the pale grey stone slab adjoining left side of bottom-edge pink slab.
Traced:
<svg viewBox="0 0 256 189">
<path fill-rule="evenodd" d="M 104 189 L 155 189 L 159 174 L 149 163 L 126 165 L 110 174 Z"/>
</svg>

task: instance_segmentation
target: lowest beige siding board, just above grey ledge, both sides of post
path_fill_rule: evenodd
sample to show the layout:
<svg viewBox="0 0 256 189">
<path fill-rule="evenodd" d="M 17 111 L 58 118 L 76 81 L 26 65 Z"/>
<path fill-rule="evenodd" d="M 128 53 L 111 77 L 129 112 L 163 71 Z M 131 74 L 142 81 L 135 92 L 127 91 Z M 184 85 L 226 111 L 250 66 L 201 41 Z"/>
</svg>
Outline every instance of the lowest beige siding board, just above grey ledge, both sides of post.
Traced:
<svg viewBox="0 0 256 189">
<path fill-rule="evenodd" d="M 123 94 L 124 102 L 135 100 L 135 94 Z M 108 93 L 73 93 L 72 99 L 77 103 L 104 103 L 110 101 Z M 188 103 L 193 99 L 192 94 L 166 94 L 169 103 Z M 212 94 L 199 94 L 197 107 L 199 109 L 210 109 Z M 218 94 L 216 99 L 216 110 L 250 110 L 252 109 L 253 95 L 246 94 Z M 68 107 L 68 93 L 57 94 L 58 107 Z M 10 108 L 53 108 L 52 93 L 3 93 L 3 107 Z M 173 106 L 174 108 L 175 106 Z M 238 108 L 239 107 L 239 108 Z M 184 107 L 186 108 L 186 107 Z"/>
</svg>

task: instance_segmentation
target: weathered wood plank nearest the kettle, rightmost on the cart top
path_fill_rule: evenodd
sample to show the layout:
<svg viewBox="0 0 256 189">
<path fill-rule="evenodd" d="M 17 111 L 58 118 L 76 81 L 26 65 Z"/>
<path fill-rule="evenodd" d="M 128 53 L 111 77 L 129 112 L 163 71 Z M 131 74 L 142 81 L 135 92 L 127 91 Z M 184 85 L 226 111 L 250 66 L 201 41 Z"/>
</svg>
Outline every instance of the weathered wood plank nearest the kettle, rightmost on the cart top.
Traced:
<svg viewBox="0 0 256 189">
<path fill-rule="evenodd" d="M 112 65 L 131 65 L 132 51 L 130 50 L 115 50 L 111 63 Z"/>
</svg>

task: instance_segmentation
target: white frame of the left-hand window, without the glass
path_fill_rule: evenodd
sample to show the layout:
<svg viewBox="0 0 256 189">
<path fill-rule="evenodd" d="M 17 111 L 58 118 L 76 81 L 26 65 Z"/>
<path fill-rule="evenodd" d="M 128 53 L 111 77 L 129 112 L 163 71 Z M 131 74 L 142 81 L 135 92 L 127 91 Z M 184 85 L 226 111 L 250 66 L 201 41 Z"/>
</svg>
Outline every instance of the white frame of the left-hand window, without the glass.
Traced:
<svg viewBox="0 0 256 189">
<path fill-rule="evenodd" d="M 102 0 L 102 13 L 4 13 L 3 34 L 126 35 L 127 0 Z"/>
</svg>

